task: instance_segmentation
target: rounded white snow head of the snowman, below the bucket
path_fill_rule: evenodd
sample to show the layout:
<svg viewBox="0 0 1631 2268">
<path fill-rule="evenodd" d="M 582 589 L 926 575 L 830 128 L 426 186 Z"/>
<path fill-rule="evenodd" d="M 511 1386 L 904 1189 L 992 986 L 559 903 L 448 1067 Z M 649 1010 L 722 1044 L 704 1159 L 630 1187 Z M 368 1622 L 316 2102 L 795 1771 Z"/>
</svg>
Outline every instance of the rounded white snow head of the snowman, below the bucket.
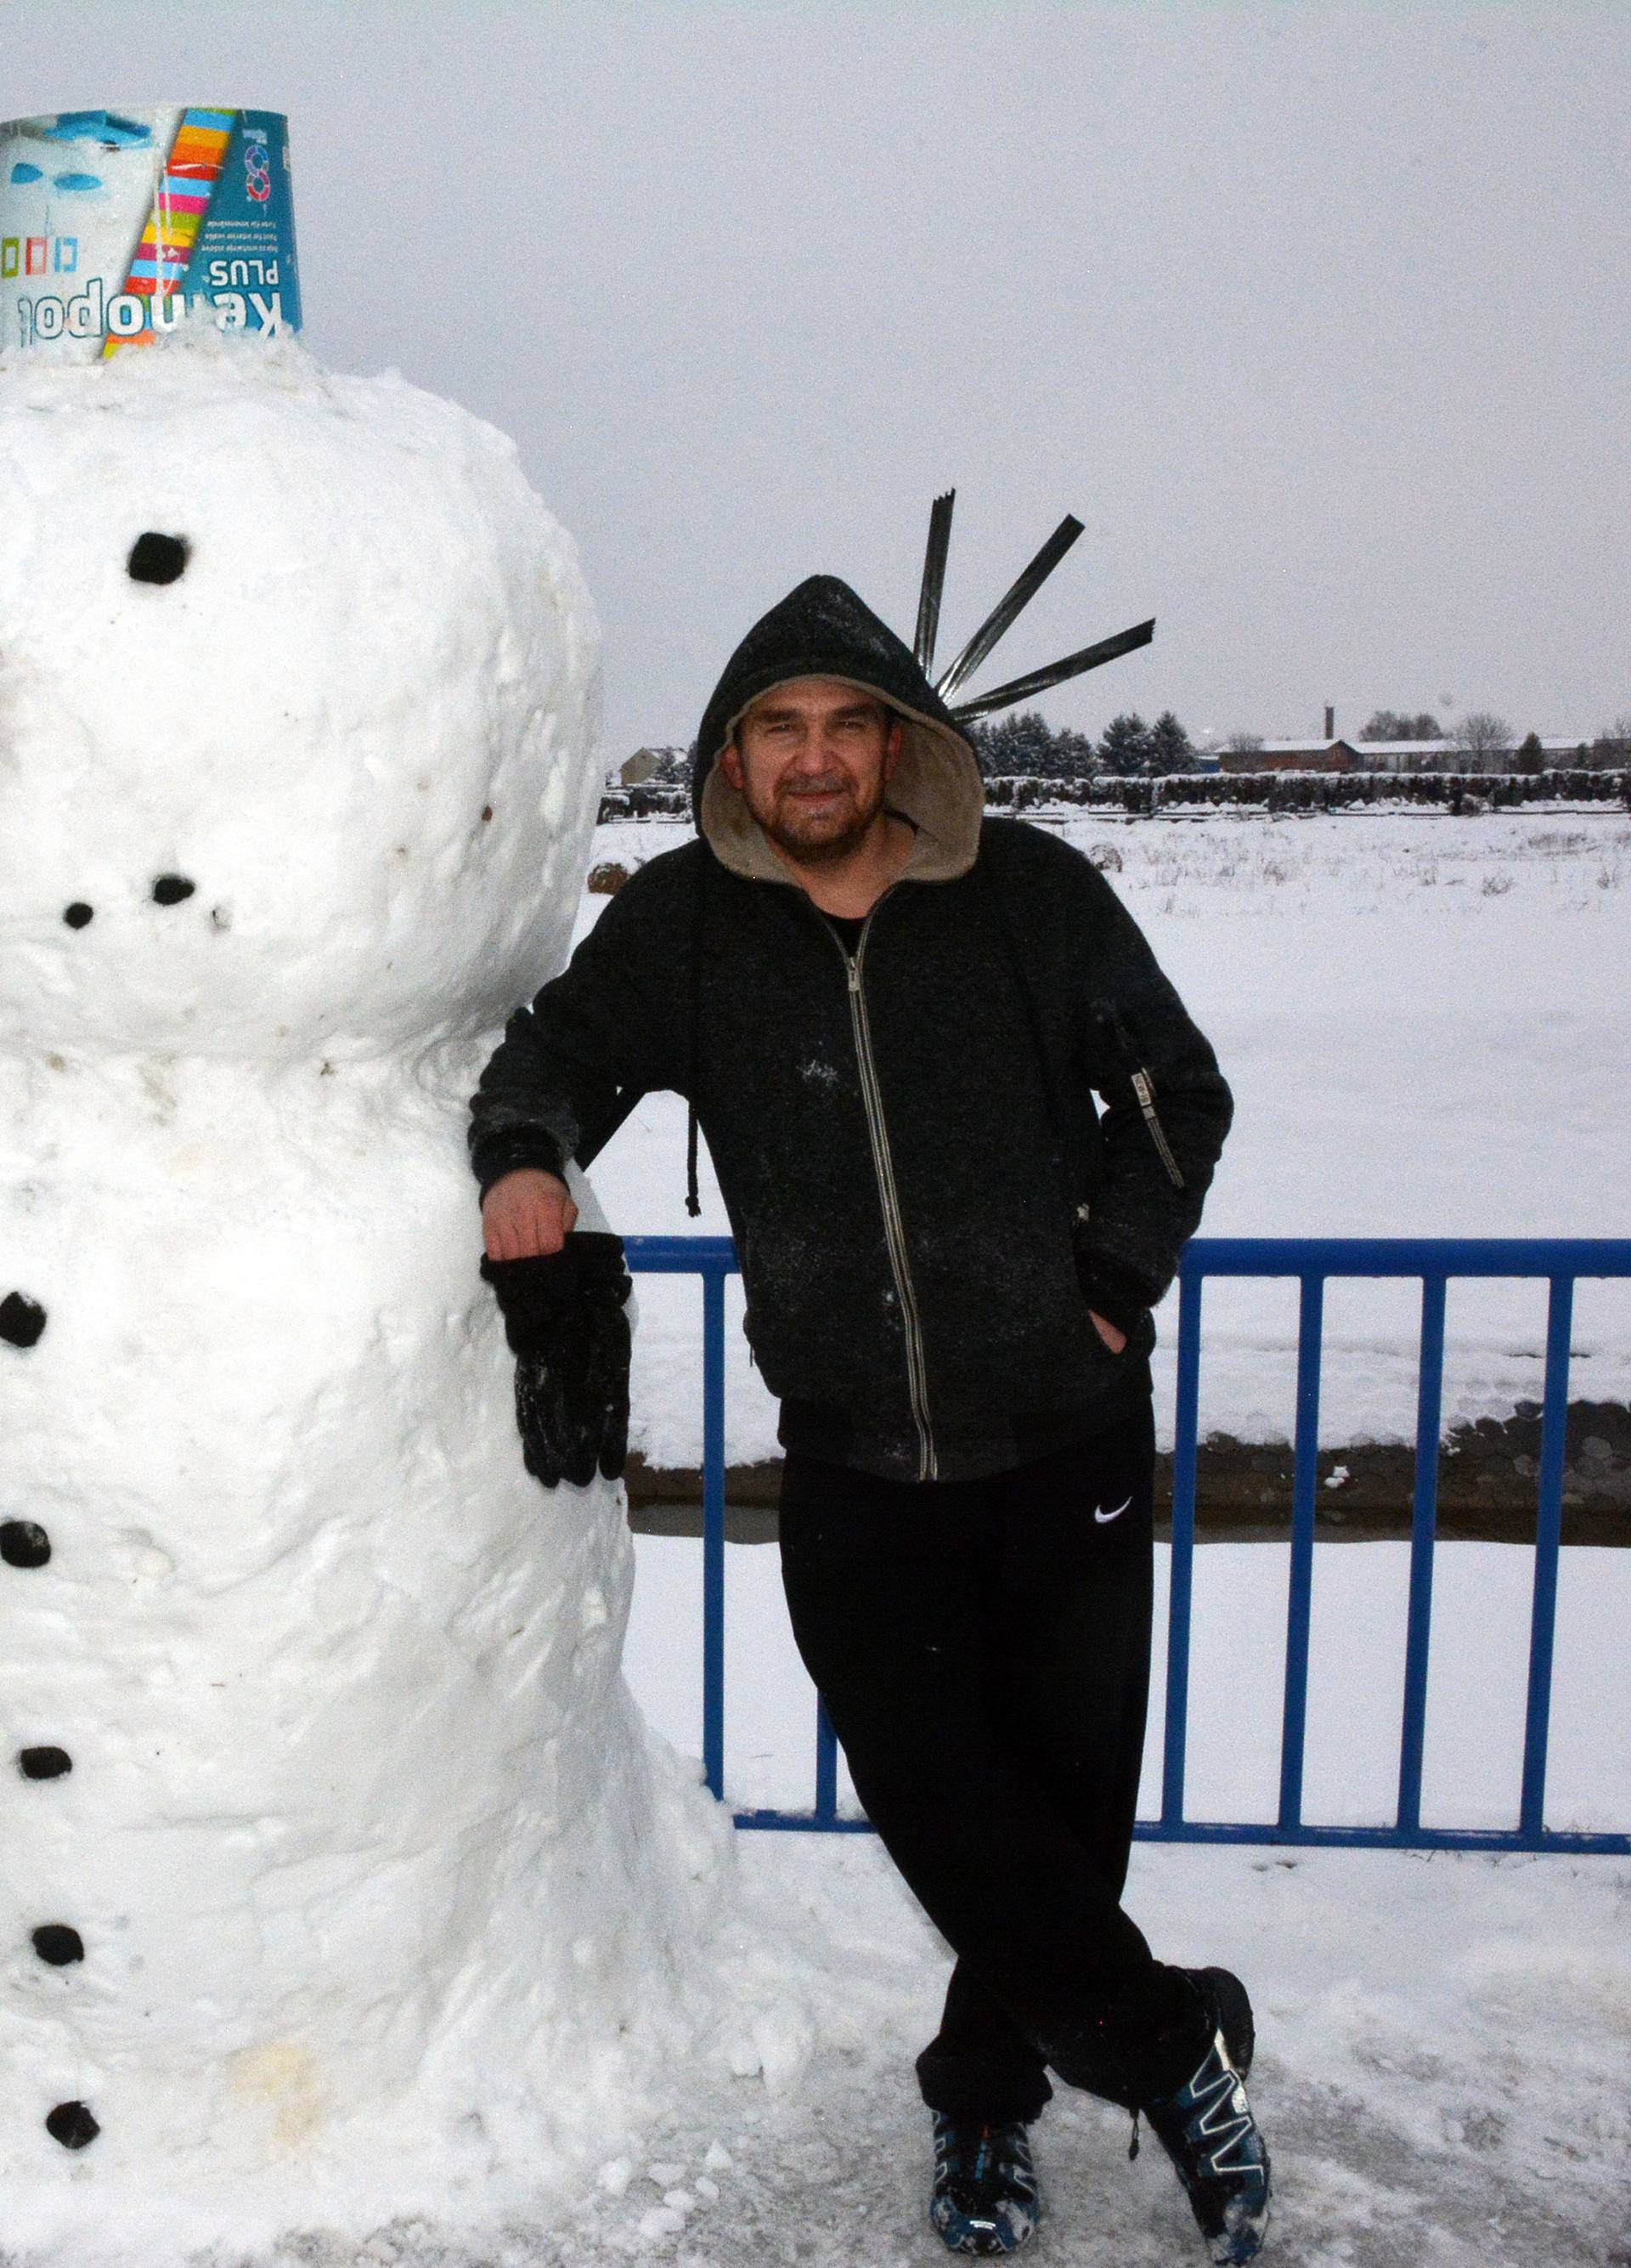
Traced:
<svg viewBox="0 0 1631 2268">
<path fill-rule="evenodd" d="M 293 340 L 0 358 L 0 1043 L 490 1030 L 565 957 L 597 735 L 492 426 Z"/>
</svg>

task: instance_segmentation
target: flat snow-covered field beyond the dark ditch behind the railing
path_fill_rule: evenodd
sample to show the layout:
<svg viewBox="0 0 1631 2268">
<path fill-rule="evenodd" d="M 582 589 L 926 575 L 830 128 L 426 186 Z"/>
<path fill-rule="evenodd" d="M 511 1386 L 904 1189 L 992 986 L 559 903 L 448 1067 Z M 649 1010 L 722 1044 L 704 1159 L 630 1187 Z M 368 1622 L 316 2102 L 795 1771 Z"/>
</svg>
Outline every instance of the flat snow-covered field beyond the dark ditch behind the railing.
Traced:
<svg viewBox="0 0 1631 2268">
<path fill-rule="evenodd" d="M 1112 869 L 1234 1086 L 1205 1234 L 1631 1229 L 1631 816 L 1073 812 L 1057 826 Z M 635 864 L 685 835 L 622 821 L 594 857 Z M 585 898 L 578 934 L 603 905 Z M 671 1095 L 640 1105 L 592 1179 L 624 1234 L 726 1232 L 705 1157 L 703 1216 L 685 1216 Z M 647 1277 L 640 1315 L 635 1447 L 694 1465 L 701 1293 Z M 1173 1315 L 1168 1302 L 1157 1318 L 1168 1440 Z M 776 1454 L 776 1406 L 746 1361 L 737 1286 L 726 1318 L 728 1452 L 746 1463 Z M 1409 1281 L 1327 1288 L 1327 1442 L 1413 1438 L 1418 1318 Z M 1291 1436 L 1295 1327 L 1293 1281 L 1207 1286 L 1202 1433 Z M 1543 1347 L 1545 1286 L 1452 1284 L 1445 1422 L 1538 1399 Z M 1631 1397 L 1631 1284 L 1579 1286 L 1572 1393 Z"/>
</svg>

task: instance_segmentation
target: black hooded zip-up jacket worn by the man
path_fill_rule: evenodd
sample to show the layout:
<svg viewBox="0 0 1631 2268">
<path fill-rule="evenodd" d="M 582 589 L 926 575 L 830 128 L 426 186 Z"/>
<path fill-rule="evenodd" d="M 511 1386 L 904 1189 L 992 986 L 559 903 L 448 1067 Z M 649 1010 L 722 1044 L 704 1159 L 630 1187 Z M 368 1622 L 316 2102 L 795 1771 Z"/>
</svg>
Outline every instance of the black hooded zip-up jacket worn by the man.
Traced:
<svg viewBox="0 0 1631 2268">
<path fill-rule="evenodd" d="M 808 676 L 905 728 L 887 803 L 914 844 L 853 955 L 717 764 L 760 694 Z M 1232 1102 L 1109 882 L 1041 828 L 984 819 L 955 719 L 833 576 L 730 655 L 692 807 L 699 839 L 631 875 L 506 1025 L 472 1095 L 483 1195 L 519 1166 L 565 1177 L 619 1089 L 674 1089 L 708 1139 L 787 1447 L 948 1481 L 1116 1422 L 1150 1393 L 1148 1311 Z"/>
</svg>

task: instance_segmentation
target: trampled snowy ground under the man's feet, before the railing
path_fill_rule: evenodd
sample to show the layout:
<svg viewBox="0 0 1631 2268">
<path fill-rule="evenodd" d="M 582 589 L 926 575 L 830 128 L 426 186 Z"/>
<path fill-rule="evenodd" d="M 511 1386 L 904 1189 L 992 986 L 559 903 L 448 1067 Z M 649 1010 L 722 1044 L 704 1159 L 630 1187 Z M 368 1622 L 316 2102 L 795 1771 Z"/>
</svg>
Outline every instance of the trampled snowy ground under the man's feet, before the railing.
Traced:
<svg viewBox="0 0 1631 2268">
<path fill-rule="evenodd" d="M 789 1991 L 821 1996 L 817 2057 L 787 2096 L 758 2080 L 699 2096 L 610 2168 L 612 2189 L 590 2170 L 490 2241 L 395 2225 L 358 2250 L 313 2232 L 277 2268 L 944 2261 L 910 2068 L 946 1973 L 937 1939 L 871 1842 L 744 1837 L 742 1864 L 789 1941 Z M 1252 1984 L 1266 2263 L 1624 2268 L 1631 1864 L 1143 1846 L 1130 1903 L 1164 1953 Z M 710 2146 L 728 2168 L 715 2148 L 705 2170 Z M 1125 2152 L 1121 2114 L 1053 2105 L 1037 2268 L 1200 2268 L 1159 2148 Z"/>
</svg>

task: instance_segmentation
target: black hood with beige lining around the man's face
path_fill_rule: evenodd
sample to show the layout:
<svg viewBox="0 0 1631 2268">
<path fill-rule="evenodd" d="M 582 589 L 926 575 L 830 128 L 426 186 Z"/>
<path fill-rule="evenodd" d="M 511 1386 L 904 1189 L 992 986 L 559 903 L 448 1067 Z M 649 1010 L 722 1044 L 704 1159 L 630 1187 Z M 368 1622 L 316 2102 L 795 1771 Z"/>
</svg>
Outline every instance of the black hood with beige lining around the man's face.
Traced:
<svg viewBox="0 0 1631 2268">
<path fill-rule="evenodd" d="M 785 882 L 787 869 L 719 769 L 737 719 L 792 678 L 837 678 L 885 701 L 905 728 L 889 780 L 889 810 L 916 826 L 903 878 L 948 882 L 980 848 L 984 782 L 973 746 L 919 669 L 912 649 L 848 583 L 812 574 L 753 624 L 726 662 L 696 733 L 692 816 L 719 862 L 749 880 Z"/>
</svg>

